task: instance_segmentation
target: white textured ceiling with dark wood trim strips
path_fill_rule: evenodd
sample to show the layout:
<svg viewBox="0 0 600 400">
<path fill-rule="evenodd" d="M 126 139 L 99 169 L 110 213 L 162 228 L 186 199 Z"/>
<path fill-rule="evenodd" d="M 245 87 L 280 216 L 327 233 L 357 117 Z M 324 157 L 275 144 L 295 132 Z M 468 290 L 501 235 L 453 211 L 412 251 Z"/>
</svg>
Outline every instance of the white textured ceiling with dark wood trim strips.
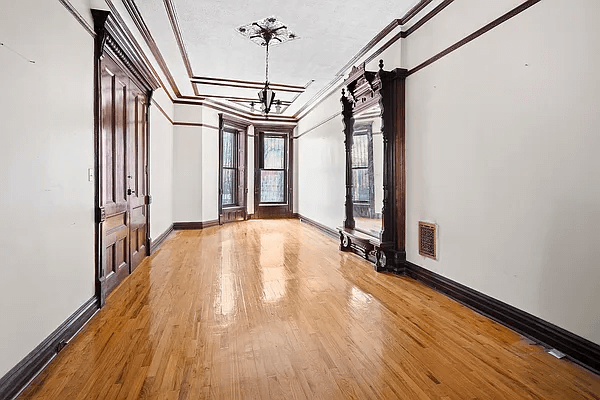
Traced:
<svg viewBox="0 0 600 400">
<path fill-rule="evenodd" d="M 264 82 L 264 47 L 240 35 L 236 28 L 275 16 L 293 30 L 299 39 L 273 46 L 269 57 L 270 82 L 299 87 L 309 84 L 303 93 L 297 89 L 292 92 L 275 90 L 277 98 L 288 102 L 294 100 L 284 113 L 292 115 L 416 0 L 136 0 L 135 4 L 180 91 L 183 95 L 193 96 L 189 73 L 167 16 L 169 3 L 175 10 L 176 26 L 193 75 L 197 77 Z M 226 102 L 224 97 L 229 96 L 255 98 L 257 91 L 255 88 L 197 84 L 196 93 L 219 96 L 218 101 Z M 249 105 L 239 101 L 230 104 Z"/>
</svg>

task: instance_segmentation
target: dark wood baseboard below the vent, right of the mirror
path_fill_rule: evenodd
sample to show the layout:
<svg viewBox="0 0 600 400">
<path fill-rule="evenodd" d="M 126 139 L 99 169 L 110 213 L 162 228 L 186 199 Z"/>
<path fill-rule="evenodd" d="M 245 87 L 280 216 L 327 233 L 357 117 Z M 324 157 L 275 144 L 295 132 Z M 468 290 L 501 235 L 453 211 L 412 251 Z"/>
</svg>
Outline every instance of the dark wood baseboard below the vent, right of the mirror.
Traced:
<svg viewBox="0 0 600 400">
<path fill-rule="evenodd" d="M 570 360 L 594 373 L 600 372 L 600 345 L 409 261 L 404 274 L 546 348 L 565 353 Z"/>
</svg>

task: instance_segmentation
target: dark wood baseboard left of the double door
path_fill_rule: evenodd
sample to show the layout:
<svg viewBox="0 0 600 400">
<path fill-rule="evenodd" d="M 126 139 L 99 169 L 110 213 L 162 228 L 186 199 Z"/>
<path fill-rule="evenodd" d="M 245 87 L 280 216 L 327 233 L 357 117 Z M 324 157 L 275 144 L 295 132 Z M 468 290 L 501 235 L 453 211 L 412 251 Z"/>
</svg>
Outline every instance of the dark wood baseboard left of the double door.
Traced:
<svg viewBox="0 0 600 400">
<path fill-rule="evenodd" d="M 86 301 L 31 353 L 0 378 L 0 399 L 13 399 L 25 389 L 99 309 L 96 297 Z"/>
</svg>

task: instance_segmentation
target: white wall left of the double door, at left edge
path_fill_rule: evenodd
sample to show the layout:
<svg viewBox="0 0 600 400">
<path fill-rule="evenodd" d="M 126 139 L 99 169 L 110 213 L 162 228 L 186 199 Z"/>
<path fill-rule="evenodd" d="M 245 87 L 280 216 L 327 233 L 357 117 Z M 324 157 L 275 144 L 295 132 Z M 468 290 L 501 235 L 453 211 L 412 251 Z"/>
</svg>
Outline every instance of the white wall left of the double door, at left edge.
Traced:
<svg viewBox="0 0 600 400">
<path fill-rule="evenodd" d="M 94 295 L 94 41 L 35 0 L 4 3 L 0 38 L 3 376 Z"/>
</svg>

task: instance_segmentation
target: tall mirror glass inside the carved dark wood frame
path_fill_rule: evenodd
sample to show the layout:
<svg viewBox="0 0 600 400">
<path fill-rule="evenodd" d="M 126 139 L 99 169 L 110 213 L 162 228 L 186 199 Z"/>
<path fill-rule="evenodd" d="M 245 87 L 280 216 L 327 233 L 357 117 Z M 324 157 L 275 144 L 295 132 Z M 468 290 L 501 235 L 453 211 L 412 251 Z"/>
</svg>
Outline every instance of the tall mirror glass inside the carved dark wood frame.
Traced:
<svg viewBox="0 0 600 400">
<path fill-rule="evenodd" d="M 354 115 L 352 203 L 357 231 L 381 239 L 383 208 L 383 134 L 381 108 Z"/>
</svg>

